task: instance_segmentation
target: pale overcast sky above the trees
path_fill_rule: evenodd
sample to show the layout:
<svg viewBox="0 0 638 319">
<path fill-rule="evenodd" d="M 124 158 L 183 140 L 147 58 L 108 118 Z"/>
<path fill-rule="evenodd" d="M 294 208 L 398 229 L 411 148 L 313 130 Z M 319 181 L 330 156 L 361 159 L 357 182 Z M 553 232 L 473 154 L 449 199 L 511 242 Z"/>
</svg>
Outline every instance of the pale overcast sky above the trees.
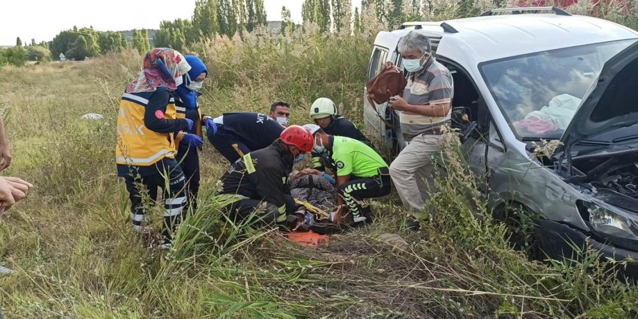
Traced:
<svg viewBox="0 0 638 319">
<path fill-rule="evenodd" d="M 303 0 L 264 0 L 268 20 L 281 20 L 281 6 L 300 22 Z M 360 3 L 353 0 L 352 3 Z M 179 5 L 177 5 L 179 4 Z M 158 29 L 162 20 L 190 19 L 195 0 L 0 0 L 0 45 L 50 41 L 73 26 L 99 31 Z"/>
</svg>

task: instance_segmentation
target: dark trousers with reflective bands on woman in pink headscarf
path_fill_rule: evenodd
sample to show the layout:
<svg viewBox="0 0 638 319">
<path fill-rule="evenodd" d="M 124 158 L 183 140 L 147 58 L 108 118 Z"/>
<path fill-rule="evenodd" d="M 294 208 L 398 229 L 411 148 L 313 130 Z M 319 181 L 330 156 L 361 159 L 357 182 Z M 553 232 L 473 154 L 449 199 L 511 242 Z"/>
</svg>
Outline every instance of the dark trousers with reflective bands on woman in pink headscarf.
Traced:
<svg viewBox="0 0 638 319">
<path fill-rule="evenodd" d="M 167 161 L 172 162 L 172 161 Z M 158 188 L 163 191 L 164 227 L 162 234 L 165 242 L 170 242 L 172 234 L 179 225 L 184 207 L 188 204 L 186 197 L 186 177 L 182 169 L 174 161 L 167 165 L 165 172 L 144 177 L 124 177 L 126 189 L 131 199 L 131 221 L 135 230 L 144 229 L 146 209 L 153 205 L 158 197 Z"/>
</svg>

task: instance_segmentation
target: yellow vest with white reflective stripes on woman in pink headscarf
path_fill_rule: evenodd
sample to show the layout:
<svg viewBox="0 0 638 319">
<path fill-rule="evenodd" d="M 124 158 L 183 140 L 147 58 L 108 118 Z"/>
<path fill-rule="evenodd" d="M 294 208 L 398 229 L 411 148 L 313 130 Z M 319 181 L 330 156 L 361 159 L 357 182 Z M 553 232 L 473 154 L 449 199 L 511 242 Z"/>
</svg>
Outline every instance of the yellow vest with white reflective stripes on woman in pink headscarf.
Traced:
<svg viewBox="0 0 638 319">
<path fill-rule="evenodd" d="M 115 162 L 122 165 L 150 166 L 163 158 L 174 158 L 172 134 L 157 133 L 144 125 L 144 111 L 149 100 L 124 93 L 117 115 Z M 177 117 L 175 104 L 167 104 L 165 119 Z"/>
</svg>

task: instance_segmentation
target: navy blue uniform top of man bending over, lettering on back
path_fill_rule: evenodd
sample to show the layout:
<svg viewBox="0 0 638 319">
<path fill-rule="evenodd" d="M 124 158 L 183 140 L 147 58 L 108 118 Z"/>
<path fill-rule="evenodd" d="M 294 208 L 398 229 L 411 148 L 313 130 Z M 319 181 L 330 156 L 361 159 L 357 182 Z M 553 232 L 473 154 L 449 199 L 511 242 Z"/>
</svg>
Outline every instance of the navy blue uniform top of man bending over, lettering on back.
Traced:
<svg viewBox="0 0 638 319">
<path fill-rule="evenodd" d="M 209 133 L 208 140 L 231 164 L 271 145 L 285 129 L 268 115 L 255 112 L 224 113 L 213 121 L 217 133 Z"/>
</svg>

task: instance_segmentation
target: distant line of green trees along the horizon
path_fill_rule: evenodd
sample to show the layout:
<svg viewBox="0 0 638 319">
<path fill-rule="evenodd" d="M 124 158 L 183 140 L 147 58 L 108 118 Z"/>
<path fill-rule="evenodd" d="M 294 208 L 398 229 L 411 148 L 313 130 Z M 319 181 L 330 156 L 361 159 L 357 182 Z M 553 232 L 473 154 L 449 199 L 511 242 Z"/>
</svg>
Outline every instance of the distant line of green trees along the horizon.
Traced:
<svg viewBox="0 0 638 319">
<path fill-rule="evenodd" d="M 408 20 L 428 19 L 436 6 L 428 0 L 362 0 L 361 6 L 352 11 L 352 0 L 299 0 L 302 3 L 304 24 L 315 25 L 320 32 L 357 33 L 363 31 L 366 17 L 385 23 L 390 29 Z M 481 10 L 476 0 L 460 0 L 454 4 L 459 17 L 477 15 Z M 492 0 L 494 7 L 503 6 L 505 0 Z M 293 22 L 290 10 L 281 8 L 282 34 L 291 34 L 298 26 Z M 232 37 L 258 27 L 267 27 L 268 21 L 263 0 L 197 0 L 191 19 L 162 21 L 153 36 L 153 47 L 170 47 L 182 50 L 204 38 Z M 20 38 L 12 48 L 0 48 L 0 66 L 22 65 L 25 61 L 57 60 L 60 54 L 67 59 L 84 60 L 108 52 L 134 48 L 140 53 L 151 48 L 148 30 L 101 32 L 93 27 L 62 31 L 50 42 L 24 46 Z"/>
</svg>

